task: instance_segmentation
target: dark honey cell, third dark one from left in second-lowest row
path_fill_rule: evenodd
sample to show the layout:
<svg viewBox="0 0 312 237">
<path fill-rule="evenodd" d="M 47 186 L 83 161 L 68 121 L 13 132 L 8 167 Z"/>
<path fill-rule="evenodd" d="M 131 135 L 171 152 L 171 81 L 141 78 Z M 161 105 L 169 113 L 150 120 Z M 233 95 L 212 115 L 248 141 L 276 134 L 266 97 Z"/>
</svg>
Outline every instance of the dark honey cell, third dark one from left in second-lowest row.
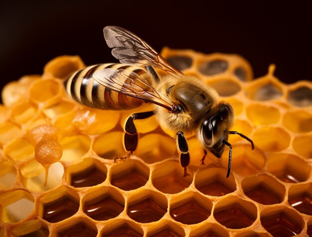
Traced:
<svg viewBox="0 0 312 237">
<path fill-rule="evenodd" d="M 128 216 L 140 223 L 159 221 L 167 213 L 167 199 L 152 190 L 135 193 L 128 199 Z"/>
</svg>

